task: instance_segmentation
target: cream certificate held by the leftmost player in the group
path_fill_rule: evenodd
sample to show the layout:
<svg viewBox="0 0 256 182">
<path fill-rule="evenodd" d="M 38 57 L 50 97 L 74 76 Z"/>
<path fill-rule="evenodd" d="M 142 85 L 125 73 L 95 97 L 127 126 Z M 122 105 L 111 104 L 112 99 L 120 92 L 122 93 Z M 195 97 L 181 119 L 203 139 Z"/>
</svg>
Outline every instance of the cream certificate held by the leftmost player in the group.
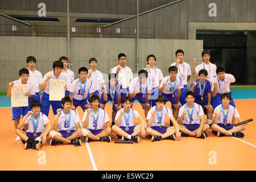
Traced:
<svg viewBox="0 0 256 182">
<path fill-rule="evenodd" d="M 26 107 L 28 106 L 28 97 L 24 94 L 28 92 L 28 85 L 13 85 L 11 88 L 11 107 Z"/>
</svg>

